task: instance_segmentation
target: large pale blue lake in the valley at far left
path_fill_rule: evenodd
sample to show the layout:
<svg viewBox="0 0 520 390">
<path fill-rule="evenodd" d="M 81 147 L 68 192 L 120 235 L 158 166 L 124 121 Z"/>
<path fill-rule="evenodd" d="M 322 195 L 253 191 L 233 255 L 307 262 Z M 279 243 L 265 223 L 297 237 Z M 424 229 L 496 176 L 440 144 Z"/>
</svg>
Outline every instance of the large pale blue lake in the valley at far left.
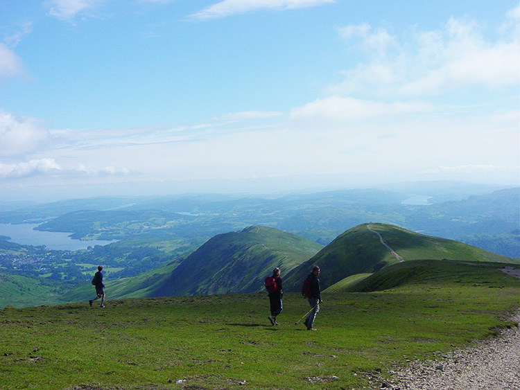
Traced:
<svg viewBox="0 0 520 390">
<path fill-rule="evenodd" d="M 106 240 L 73 240 L 69 236 L 72 233 L 62 233 L 55 231 L 33 230 L 38 224 L 0 224 L 0 236 L 8 236 L 10 242 L 21 245 L 45 245 L 47 249 L 76 251 L 87 249 L 94 245 L 107 245 L 115 241 Z"/>
</svg>

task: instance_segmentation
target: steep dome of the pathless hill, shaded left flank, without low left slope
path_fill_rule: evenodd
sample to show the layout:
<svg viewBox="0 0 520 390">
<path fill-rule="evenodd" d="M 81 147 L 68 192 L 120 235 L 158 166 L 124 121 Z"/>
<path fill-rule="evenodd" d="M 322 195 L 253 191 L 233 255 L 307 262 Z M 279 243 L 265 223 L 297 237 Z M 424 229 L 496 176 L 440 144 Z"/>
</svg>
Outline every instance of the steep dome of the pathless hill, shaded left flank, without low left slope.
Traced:
<svg viewBox="0 0 520 390">
<path fill-rule="evenodd" d="M 270 227 L 219 234 L 187 256 L 149 296 L 257 292 L 274 267 L 282 276 L 322 245 Z"/>
</svg>

